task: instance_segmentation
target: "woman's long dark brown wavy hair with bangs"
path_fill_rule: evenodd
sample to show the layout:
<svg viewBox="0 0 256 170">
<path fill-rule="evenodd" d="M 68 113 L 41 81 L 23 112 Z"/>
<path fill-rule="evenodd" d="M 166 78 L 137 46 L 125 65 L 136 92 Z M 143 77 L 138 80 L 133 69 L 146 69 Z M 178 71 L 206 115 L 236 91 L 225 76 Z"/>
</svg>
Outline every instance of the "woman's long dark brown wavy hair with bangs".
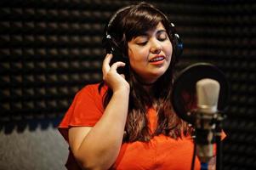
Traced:
<svg viewBox="0 0 256 170">
<path fill-rule="evenodd" d="M 122 50 L 123 56 L 128 57 L 128 42 L 133 37 L 143 35 L 146 31 L 156 28 L 159 22 L 162 22 L 167 32 L 170 31 L 170 23 L 165 14 L 149 3 L 138 3 L 119 9 L 111 18 L 107 31 L 111 35 L 112 41 Z M 170 33 L 168 33 L 168 37 L 174 44 Z M 174 45 L 173 50 L 175 51 Z M 161 133 L 174 139 L 181 138 L 183 134 L 189 134 L 189 127 L 174 113 L 171 104 L 176 57 L 174 51 L 168 70 L 153 84 L 153 95 L 149 95 L 145 91 L 141 82 L 138 82 L 132 68 L 125 72 L 126 80 L 130 85 L 130 94 L 124 141 L 149 141 L 153 136 Z M 100 84 L 99 90 L 103 85 L 104 82 Z M 105 107 L 108 105 L 111 96 L 112 90 L 108 88 L 103 101 Z M 155 132 L 151 132 L 148 127 L 146 116 L 147 109 L 153 106 L 153 103 L 156 105 L 157 112 Z"/>
</svg>

